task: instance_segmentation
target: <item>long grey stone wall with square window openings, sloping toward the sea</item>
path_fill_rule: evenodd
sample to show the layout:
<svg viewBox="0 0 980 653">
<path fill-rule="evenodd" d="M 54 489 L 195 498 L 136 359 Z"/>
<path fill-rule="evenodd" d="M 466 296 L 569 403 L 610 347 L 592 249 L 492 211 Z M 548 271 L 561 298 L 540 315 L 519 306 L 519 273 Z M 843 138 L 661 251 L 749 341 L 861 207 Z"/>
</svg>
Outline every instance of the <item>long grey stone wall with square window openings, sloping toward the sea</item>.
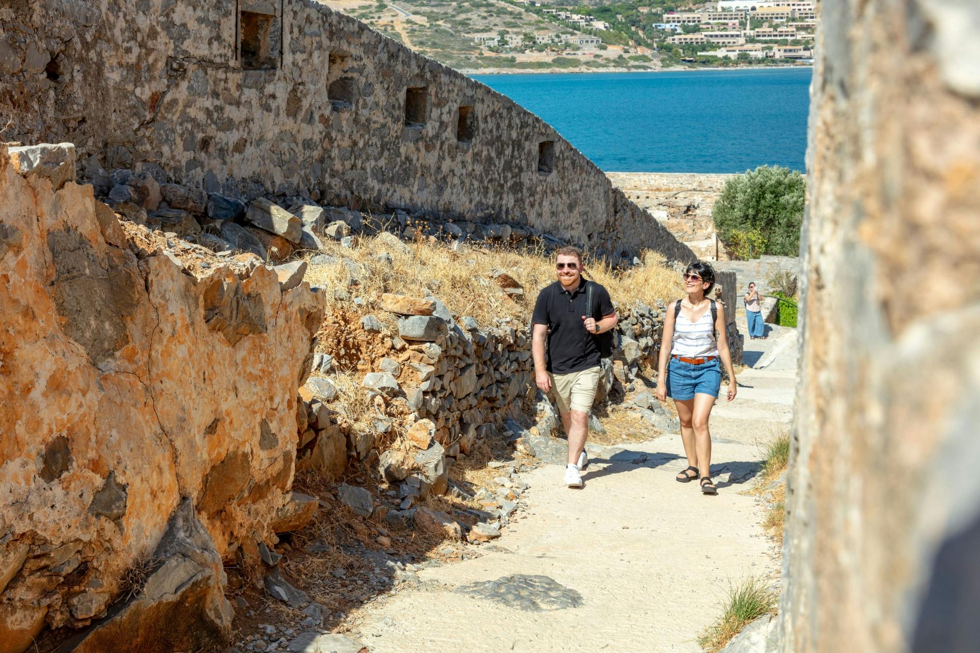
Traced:
<svg viewBox="0 0 980 653">
<path fill-rule="evenodd" d="M 9 140 L 246 198 L 534 227 L 618 261 L 694 255 L 550 126 L 311 0 L 0 9 Z M 94 158 L 88 158 L 94 157 Z"/>
</svg>

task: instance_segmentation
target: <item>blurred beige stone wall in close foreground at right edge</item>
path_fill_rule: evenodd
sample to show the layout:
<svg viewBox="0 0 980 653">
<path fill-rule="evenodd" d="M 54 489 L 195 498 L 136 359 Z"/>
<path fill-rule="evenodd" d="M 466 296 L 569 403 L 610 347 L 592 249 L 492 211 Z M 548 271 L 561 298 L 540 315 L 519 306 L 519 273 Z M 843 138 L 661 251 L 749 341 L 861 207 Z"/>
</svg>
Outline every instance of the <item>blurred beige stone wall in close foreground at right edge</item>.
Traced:
<svg viewBox="0 0 980 653">
<path fill-rule="evenodd" d="M 980 5 L 820 4 L 786 651 L 980 648 Z"/>
</svg>

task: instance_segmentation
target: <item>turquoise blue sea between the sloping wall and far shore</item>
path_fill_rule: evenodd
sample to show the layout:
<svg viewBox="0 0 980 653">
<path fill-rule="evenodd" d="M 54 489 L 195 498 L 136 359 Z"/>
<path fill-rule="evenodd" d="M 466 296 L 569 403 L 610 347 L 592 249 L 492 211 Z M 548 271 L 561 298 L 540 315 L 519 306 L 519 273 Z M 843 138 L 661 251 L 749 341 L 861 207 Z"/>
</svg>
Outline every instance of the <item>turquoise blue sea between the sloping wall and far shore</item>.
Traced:
<svg viewBox="0 0 980 653">
<path fill-rule="evenodd" d="M 558 129 L 601 169 L 804 170 L 809 68 L 472 75 Z"/>
</svg>

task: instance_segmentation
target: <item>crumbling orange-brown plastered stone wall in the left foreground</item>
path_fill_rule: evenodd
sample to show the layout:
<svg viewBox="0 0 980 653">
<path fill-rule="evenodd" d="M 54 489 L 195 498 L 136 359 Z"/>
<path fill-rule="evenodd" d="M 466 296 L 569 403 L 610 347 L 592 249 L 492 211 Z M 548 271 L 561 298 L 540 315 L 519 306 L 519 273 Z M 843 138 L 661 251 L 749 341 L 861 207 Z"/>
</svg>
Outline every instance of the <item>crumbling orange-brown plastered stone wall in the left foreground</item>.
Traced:
<svg viewBox="0 0 980 653">
<path fill-rule="evenodd" d="M 74 176 L 70 143 L 0 146 L 0 648 L 104 616 L 128 570 L 165 565 L 163 604 L 199 594 L 177 601 L 187 628 L 163 604 L 134 619 L 197 650 L 230 625 L 221 558 L 255 551 L 287 501 L 322 300 L 174 254 Z"/>
</svg>

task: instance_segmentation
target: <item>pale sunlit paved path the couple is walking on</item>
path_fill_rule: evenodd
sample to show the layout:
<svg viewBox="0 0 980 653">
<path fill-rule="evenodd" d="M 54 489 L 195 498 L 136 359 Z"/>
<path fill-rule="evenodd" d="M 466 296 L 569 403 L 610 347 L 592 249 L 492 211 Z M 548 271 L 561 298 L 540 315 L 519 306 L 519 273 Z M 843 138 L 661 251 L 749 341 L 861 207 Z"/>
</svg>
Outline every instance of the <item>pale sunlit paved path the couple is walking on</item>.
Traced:
<svg viewBox="0 0 980 653">
<path fill-rule="evenodd" d="M 590 446 L 583 489 L 564 487 L 558 465 L 521 475 L 528 509 L 474 549 L 483 555 L 422 570 L 420 587 L 347 626 L 374 653 L 700 651 L 728 579 L 778 572 L 761 508 L 742 491 L 760 442 L 789 420 L 795 337 L 775 327 L 746 343 L 760 364 L 777 355 L 742 372 L 736 401 L 712 416 L 717 496 L 674 480 L 687 465 L 679 435 Z"/>
</svg>

